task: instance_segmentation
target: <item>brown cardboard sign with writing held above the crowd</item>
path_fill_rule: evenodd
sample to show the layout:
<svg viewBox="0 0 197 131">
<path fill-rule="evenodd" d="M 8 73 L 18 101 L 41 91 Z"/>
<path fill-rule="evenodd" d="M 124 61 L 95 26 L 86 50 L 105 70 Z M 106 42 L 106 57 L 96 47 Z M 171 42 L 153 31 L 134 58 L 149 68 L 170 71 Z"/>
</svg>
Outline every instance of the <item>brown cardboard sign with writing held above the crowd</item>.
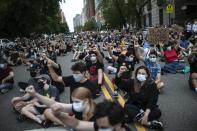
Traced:
<svg viewBox="0 0 197 131">
<path fill-rule="evenodd" d="M 169 41 L 169 29 L 167 28 L 150 28 L 148 30 L 148 42 L 150 45 L 156 45 L 162 42 L 167 44 Z"/>
</svg>

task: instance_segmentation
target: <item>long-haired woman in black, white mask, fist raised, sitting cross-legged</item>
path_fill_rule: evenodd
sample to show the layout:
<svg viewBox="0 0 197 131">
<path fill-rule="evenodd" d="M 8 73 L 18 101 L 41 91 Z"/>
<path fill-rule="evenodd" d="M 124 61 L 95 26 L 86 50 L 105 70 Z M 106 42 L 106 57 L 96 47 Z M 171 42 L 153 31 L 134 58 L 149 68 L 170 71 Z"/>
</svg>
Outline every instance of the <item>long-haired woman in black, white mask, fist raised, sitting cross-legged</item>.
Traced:
<svg viewBox="0 0 197 131">
<path fill-rule="evenodd" d="M 157 121 L 161 116 L 157 105 L 157 85 L 151 80 L 148 69 L 140 66 L 135 72 L 134 79 L 122 81 L 120 77 L 126 70 L 126 66 L 120 67 L 115 84 L 129 93 L 129 99 L 124 107 L 128 119 L 152 129 L 161 129 L 163 124 Z"/>
</svg>

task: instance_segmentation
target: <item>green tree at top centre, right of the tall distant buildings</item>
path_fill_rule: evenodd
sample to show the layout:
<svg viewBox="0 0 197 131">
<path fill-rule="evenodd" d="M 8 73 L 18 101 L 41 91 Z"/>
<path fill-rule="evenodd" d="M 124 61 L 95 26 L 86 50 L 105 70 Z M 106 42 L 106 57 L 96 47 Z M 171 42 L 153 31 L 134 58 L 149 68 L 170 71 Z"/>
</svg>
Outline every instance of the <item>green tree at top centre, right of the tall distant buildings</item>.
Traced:
<svg viewBox="0 0 197 131">
<path fill-rule="evenodd" d="M 127 24 L 140 29 L 144 7 L 150 0 L 101 0 L 101 8 L 105 22 L 109 28 L 122 28 Z"/>
</svg>

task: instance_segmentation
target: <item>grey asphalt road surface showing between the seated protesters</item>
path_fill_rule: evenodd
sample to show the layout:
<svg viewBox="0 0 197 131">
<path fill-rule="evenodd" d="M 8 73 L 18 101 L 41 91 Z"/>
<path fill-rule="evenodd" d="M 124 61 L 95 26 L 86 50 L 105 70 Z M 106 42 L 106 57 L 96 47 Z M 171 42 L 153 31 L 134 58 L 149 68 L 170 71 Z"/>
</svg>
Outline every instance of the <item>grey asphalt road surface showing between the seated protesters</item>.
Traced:
<svg viewBox="0 0 197 131">
<path fill-rule="evenodd" d="M 72 73 L 70 70 L 71 58 L 72 53 L 58 58 L 63 75 Z M 26 66 L 13 68 L 16 83 L 28 80 L 29 74 L 26 71 Z M 164 123 L 164 131 L 197 131 L 197 94 L 189 89 L 187 79 L 187 74 L 162 76 L 166 86 L 159 96 L 158 104 L 162 110 L 161 121 Z M 14 96 L 19 95 L 22 94 L 17 86 L 6 94 L 0 94 L 0 131 L 23 131 L 41 128 L 40 125 L 31 120 L 22 123 L 16 120 L 16 114 L 11 108 L 10 101 Z M 61 101 L 69 102 L 68 88 L 61 95 Z"/>
</svg>

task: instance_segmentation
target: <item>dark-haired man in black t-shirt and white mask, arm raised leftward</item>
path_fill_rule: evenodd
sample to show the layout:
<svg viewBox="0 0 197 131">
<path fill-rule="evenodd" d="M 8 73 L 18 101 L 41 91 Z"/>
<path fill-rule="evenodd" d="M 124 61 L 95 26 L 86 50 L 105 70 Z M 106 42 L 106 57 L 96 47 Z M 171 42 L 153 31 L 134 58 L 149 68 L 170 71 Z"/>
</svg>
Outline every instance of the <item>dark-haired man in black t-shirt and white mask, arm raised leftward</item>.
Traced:
<svg viewBox="0 0 197 131">
<path fill-rule="evenodd" d="M 70 92 L 72 93 L 74 89 L 78 87 L 88 88 L 93 98 L 96 98 L 96 86 L 86 78 L 86 64 L 83 62 L 75 63 L 71 70 L 73 71 L 73 75 L 70 76 L 58 76 L 51 64 L 51 61 L 48 61 L 48 68 L 51 74 L 51 77 L 56 82 L 64 82 L 66 87 L 70 87 Z"/>
</svg>

